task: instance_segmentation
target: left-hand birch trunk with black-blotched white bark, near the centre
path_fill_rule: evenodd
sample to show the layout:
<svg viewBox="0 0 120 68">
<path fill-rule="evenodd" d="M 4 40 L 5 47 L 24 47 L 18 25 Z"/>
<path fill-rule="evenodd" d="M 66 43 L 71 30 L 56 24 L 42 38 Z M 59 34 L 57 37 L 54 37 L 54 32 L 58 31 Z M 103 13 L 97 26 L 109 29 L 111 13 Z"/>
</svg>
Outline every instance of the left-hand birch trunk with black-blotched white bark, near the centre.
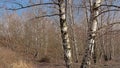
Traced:
<svg viewBox="0 0 120 68">
<path fill-rule="evenodd" d="M 66 62 L 66 67 L 71 68 L 72 56 L 71 56 L 71 46 L 68 37 L 68 27 L 66 22 L 66 6 L 67 0 L 58 0 L 59 2 L 59 13 L 60 13 L 60 28 L 61 37 L 64 49 L 64 60 Z"/>
</svg>

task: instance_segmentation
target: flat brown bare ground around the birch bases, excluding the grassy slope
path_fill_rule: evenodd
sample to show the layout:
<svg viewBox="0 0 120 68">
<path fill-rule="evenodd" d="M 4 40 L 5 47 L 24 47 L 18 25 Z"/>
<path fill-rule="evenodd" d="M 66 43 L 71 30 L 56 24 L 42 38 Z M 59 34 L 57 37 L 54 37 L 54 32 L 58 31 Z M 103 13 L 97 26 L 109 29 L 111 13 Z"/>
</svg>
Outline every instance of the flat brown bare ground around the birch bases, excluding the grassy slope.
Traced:
<svg viewBox="0 0 120 68">
<path fill-rule="evenodd" d="M 66 68 L 64 64 L 57 63 L 40 63 L 37 68 Z M 80 68 L 80 63 L 74 63 L 73 68 Z M 120 68 L 120 58 L 115 58 L 112 61 L 95 64 L 91 68 Z"/>
</svg>

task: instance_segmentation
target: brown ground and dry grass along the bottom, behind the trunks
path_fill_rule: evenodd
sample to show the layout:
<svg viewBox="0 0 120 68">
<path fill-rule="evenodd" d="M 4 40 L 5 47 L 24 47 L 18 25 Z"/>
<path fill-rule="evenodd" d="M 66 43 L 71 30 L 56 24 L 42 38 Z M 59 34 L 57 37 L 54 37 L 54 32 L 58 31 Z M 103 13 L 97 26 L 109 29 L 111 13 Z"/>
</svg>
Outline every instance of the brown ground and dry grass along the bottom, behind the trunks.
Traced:
<svg viewBox="0 0 120 68">
<path fill-rule="evenodd" d="M 20 56 L 18 58 L 18 54 L 16 52 L 11 51 L 7 48 L 0 48 L 0 68 L 66 68 L 65 63 L 62 60 L 61 63 L 36 63 L 32 65 L 32 63 L 26 62 L 18 62 L 21 60 Z M 24 61 L 24 60 L 23 60 Z M 17 62 L 17 63 L 16 63 Z M 14 67 L 11 67 L 10 64 L 15 64 Z M 80 68 L 81 63 L 73 63 L 73 68 Z M 20 66 L 21 67 L 18 67 Z M 26 66 L 26 67 L 25 67 Z M 113 60 L 109 62 L 102 62 L 92 65 L 92 68 L 120 68 L 120 58 L 115 57 Z"/>
</svg>

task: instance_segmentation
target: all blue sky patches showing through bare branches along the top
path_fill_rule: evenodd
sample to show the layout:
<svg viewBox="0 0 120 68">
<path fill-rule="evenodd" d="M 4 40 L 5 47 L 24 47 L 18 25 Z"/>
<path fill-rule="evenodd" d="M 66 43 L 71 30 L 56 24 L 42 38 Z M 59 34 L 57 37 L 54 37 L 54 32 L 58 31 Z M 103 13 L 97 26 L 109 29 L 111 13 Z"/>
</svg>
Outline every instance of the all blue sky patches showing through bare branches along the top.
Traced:
<svg viewBox="0 0 120 68">
<path fill-rule="evenodd" d="M 33 1 L 36 1 L 36 0 L 33 0 Z M 49 2 L 49 0 L 43 0 L 43 1 L 44 2 Z M 75 1 L 75 3 L 78 3 L 78 1 L 80 1 L 80 0 L 74 0 L 74 1 Z M 20 7 L 19 5 L 14 4 L 12 2 L 20 3 L 23 6 L 30 5 L 29 0 L 0 0 L 0 7 L 6 7 L 6 8 L 18 8 L 18 7 Z M 114 4 L 120 5 L 120 0 L 116 0 L 116 2 Z M 47 11 L 47 13 L 50 14 L 50 10 L 52 10 L 52 9 L 44 7 L 44 10 L 45 11 L 49 10 L 49 11 Z M 27 9 L 20 9 L 20 10 L 17 10 L 16 12 L 18 13 L 18 15 L 22 15 L 22 13 L 25 12 L 25 11 L 28 11 L 28 10 Z M 3 14 L 5 12 L 6 11 L 4 10 L 4 8 L 0 8 L 0 17 L 3 16 Z M 9 13 L 12 13 L 12 12 L 13 11 L 9 10 Z M 78 19 L 78 20 L 81 18 L 80 16 L 82 16 L 82 13 L 81 14 L 80 13 L 75 14 L 75 18 Z"/>
</svg>

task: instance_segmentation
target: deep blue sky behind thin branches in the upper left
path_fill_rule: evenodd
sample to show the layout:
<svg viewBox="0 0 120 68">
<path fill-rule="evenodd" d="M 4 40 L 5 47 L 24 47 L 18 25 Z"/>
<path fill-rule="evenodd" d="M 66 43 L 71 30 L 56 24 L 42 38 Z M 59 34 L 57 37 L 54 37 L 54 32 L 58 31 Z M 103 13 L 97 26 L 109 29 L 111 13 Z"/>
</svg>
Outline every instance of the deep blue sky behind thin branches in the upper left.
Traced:
<svg viewBox="0 0 120 68">
<path fill-rule="evenodd" d="M 35 0 L 33 0 L 35 1 Z M 44 2 L 48 2 L 49 0 L 43 0 Z M 29 5 L 29 0 L 0 0 L 0 7 L 6 7 L 6 8 L 18 8 L 20 7 L 19 5 L 13 3 L 13 2 L 17 2 L 22 4 L 23 6 Z M 26 9 L 20 9 L 17 10 L 17 13 L 19 15 L 21 15 L 22 12 L 26 11 Z M 2 14 L 5 12 L 4 8 L 0 9 L 0 16 L 2 16 Z M 10 13 L 12 11 L 9 11 Z"/>
</svg>

